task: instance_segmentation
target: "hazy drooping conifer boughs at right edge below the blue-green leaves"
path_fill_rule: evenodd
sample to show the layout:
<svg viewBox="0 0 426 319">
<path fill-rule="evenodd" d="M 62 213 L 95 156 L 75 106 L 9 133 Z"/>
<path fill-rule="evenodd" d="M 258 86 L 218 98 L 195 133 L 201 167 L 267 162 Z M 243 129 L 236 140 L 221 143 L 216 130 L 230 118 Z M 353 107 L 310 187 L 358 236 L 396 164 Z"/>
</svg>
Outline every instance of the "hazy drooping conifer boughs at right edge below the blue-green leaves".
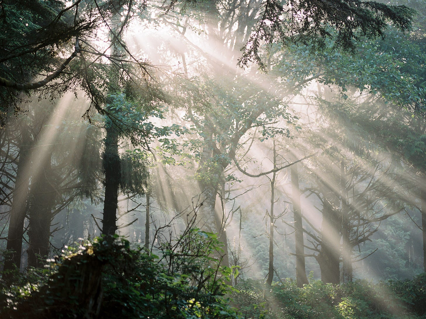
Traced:
<svg viewBox="0 0 426 319">
<path fill-rule="evenodd" d="M 361 104 L 346 101 L 339 102 L 338 105 L 335 103 L 324 105 L 331 112 L 331 116 L 357 125 L 357 130 L 367 140 L 381 145 L 384 152 L 398 154 L 395 161 L 401 161 L 401 159 L 405 161 L 403 165 L 405 168 L 397 173 L 396 177 L 391 178 L 392 183 L 395 183 L 395 191 L 389 192 L 389 195 L 399 200 L 403 206 L 415 207 L 422 212 L 424 226 L 426 218 L 423 217 L 423 179 L 426 125 L 423 117 L 413 117 L 409 110 L 403 111 L 376 99 Z M 371 107 L 372 105 L 374 107 Z M 401 163 L 397 166 L 401 166 Z M 415 199 L 412 198 L 413 195 Z M 422 229 L 426 228 L 422 227 Z"/>
</svg>

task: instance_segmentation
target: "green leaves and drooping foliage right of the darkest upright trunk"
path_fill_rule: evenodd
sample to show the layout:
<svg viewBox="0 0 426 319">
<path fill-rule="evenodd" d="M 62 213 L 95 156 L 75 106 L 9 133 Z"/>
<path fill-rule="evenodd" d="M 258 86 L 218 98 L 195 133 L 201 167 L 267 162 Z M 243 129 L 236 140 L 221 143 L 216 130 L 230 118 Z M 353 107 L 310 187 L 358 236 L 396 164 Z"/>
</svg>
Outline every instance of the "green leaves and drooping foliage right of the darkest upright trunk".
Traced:
<svg viewBox="0 0 426 319">
<path fill-rule="evenodd" d="M 148 167 L 150 165 L 151 144 L 157 140 L 161 147 L 157 153 L 164 162 L 175 163 L 171 155 L 181 152 L 174 136 L 180 136 L 184 130 L 177 124 L 164 126 L 156 124 L 164 120 L 167 112 L 163 101 L 156 96 L 138 96 L 130 99 L 125 93 L 116 92 L 107 95 L 105 127 L 115 128 L 123 138 L 130 138 L 133 150 L 120 154 L 121 191 L 125 194 L 144 195 L 147 190 Z"/>
</svg>

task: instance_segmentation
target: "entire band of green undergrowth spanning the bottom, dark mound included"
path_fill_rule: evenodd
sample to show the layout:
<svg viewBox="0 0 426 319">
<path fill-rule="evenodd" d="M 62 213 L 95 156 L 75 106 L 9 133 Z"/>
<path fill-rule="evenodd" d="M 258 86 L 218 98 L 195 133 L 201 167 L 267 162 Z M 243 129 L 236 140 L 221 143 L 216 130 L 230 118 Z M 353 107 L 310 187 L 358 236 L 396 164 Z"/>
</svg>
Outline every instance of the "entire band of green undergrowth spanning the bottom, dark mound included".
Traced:
<svg viewBox="0 0 426 319">
<path fill-rule="evenodd" d="M 248 279 L 232 288 L 238 271 L 220 266 L 219 246 L 215 234 L 199 229 L 164 241 L 158 256 L 121 237 L 98 237 L 45 269 L 0 281 L 0 318 L 426 318 L 426 274 L 342 285 L 311 280 L 302 288 L 287 279 L 267 290 Z"/>
</svg>

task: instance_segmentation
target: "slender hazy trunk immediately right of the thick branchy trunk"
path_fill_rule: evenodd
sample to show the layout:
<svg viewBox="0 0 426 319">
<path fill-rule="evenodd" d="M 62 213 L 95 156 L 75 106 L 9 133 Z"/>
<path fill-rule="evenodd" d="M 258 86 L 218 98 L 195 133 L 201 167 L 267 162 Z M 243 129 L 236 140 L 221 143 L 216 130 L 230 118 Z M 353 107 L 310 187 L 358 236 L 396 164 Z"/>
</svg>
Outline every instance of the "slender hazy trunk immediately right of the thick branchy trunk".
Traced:
<svg viewBox="0 0 426 319">
<path fill-rule="evenodd" d="M 352 281 L 352 244 L 350 238 L 350 225 L 349 225 L 349 206 L 348 206 L 348 181 L 346 178 L 345 164 L 340 161 L 340 198 L 342 201 L 342 274 L 341 282 Z"/>
</svg>

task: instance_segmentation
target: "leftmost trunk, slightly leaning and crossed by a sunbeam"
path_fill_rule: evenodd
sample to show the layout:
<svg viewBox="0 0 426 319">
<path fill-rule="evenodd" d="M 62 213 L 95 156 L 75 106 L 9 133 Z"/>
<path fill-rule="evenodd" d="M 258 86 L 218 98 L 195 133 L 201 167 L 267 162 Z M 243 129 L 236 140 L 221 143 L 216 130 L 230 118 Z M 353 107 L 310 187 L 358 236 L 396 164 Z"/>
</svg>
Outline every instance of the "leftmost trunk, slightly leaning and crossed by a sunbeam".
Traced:
<svg viewBox="0 0 426 319">
<path fill-rule="evenodd" d="M 12 258 L 5 260 L 3 267 L 3 279 L 9 280 L 12 274 L 7 271 L 21 266 L 22 240 L 24 234 L 24 220 L 26 215 L 28 187 L 30 177 L 30 149 L 31 138 L 26 127 L 21 128 L 21 145 L 19 161 L 16 169 L 16 179 L 12 198 L 12 207 L 9 219 L 9 231 L 7 235 L 6 249 L 12 252 Z M 6 272 L 5 272 L 6 271 Z"/>
</svg>

